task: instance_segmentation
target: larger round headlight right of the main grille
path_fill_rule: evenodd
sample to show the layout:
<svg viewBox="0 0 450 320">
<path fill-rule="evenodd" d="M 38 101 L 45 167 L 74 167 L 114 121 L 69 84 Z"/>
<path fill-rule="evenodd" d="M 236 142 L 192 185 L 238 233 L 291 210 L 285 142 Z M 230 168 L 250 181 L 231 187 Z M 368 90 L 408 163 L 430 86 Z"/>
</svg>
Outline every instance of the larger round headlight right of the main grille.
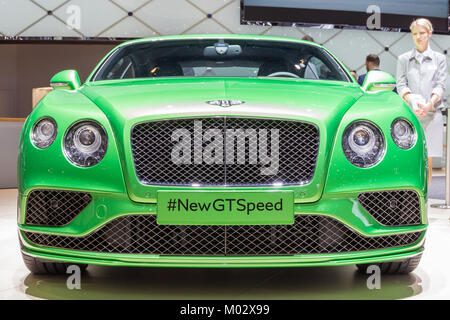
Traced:
<svg viewBox="0 0 450 320">
<path fill-rule="evenodd" d="M 384 155 L 383 134 L 370 122 L 355 121 L 344 131 L 342 148 L 347 160 L 355 166 L 371 167 Z"/>
</svg>

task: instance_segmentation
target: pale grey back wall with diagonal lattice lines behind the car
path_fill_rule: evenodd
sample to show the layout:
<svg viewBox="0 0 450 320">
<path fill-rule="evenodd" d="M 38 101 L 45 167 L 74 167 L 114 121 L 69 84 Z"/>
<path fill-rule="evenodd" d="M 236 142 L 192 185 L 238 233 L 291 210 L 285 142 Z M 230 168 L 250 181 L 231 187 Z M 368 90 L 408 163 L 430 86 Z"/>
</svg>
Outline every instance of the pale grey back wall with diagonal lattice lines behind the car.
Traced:
<svg viewBox="0 0 450 320">
<path fill-rule="evenodd" d="M 68 22 L 76 28 L 69 28 Z M 409 33 L 241 25 L 239 0 L 0 1 L 0 36 L 130 38 L 197 33 L 293 38 L 309 34 L 358 75 L 365 73 L 364 59 L 369 53 L 378 54 L 382 69 L 395 74 L 398 55 L 413 46 Z M 450 36 L 434 35 L 431 45 L 442 53 L 450 50 Z"/>
</svg>

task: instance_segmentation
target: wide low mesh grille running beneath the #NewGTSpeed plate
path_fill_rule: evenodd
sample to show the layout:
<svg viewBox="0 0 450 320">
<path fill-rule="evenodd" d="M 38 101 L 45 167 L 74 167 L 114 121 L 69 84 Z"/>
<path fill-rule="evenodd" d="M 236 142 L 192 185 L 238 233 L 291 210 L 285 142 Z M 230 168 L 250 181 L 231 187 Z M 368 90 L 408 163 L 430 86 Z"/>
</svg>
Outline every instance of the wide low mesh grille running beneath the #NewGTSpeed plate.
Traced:
<svg viewBox="0 0 450 320">
<path fill-rule="evenodd" d="M 168 226 L 155 215 L 112 220 L 84 237 L 25 232 L 40 246 L 105 253 L 158 255 L 293 255 L 343 253 L 407 246 L 421 232 L 365 237 L 339 221 L 297 215 L 293 225 Z"/>
</svg>

